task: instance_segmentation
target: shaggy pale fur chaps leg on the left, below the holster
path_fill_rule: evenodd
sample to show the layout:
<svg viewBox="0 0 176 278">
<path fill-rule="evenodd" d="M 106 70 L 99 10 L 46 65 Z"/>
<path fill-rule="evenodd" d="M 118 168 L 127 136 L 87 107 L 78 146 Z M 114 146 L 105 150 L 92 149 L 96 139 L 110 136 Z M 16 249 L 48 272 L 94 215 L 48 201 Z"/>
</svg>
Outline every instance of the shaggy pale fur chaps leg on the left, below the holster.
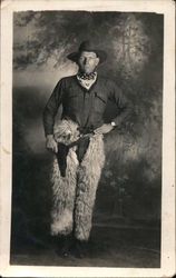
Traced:
<svg viewBox="0 0 176 278">
<path fill-rule="evenodd" d="M 78 160 L 75 149 L 67 156 L 66 177 L 60 175 L 57 158 L 53 159 L 51 173 L 52 210 L 51 235 L 69 235 L 72 231 L 72 214 L 76 198 Z"/>
</svg>

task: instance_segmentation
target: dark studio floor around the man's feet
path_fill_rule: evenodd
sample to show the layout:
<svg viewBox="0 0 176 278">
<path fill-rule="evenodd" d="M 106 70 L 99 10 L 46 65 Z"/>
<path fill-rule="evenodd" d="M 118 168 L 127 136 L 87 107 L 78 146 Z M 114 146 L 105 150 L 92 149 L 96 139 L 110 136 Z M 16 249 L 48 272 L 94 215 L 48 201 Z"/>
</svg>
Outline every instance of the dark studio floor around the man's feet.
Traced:
<svg viewBox="0 0 176 278">
<path fill-rule="evenodd" d="M 84 258 L 59 257 L 53 241 L 40 235 L 13 239 L 11 265 L 159 268 L 160 232 L 157 228 L 95 225 Z"/>
</svg>

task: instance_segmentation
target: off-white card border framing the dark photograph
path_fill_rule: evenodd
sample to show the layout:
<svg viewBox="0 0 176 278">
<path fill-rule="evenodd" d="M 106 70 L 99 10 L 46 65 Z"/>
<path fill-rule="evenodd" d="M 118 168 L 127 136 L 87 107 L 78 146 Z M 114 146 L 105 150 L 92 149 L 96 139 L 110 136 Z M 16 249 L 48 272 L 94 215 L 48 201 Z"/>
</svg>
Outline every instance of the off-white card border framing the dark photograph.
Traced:
<svg viewBox="0 0 176 278">
<path fill-rule="evenodd" d="M 72 4 L 74 2 L 74 4 Z M 52 4 L 51 4 L 52 3 Z M 160 268 L 10 266 L 12 169 L 12 13 L 26 10 L 138 11 L 164 14 L 163 206 Z M 7 0 L 1 3 L 0 275 L 3 277 L 172 277 L 175 274 L 175 3 L 172 0 Z"/>
</svg>

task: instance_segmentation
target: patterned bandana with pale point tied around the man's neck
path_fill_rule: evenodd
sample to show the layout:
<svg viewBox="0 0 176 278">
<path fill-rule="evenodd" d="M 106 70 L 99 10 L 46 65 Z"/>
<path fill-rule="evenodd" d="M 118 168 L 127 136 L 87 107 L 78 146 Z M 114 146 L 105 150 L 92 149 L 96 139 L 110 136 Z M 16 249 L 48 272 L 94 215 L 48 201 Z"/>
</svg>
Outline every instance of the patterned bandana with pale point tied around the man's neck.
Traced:
<svg viewBox="0 0 176 278">
<path fill-rule="evenodd" d="M 91 72 L 89 75 L 78 72 L 77 75 L 78 82 L 87 90 L 89 90 L 90 87 L 96 82 L 96 79 L 97 79 L 97 72 Z"/>
</svg>

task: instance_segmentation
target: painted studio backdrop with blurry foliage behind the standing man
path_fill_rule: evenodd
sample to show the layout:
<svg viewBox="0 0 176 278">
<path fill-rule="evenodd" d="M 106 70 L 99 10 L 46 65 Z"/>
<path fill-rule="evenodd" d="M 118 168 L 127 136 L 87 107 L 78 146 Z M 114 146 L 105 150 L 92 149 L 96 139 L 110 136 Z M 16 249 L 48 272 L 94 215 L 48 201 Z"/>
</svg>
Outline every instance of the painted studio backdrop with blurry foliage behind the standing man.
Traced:
<svg viewBox="0 0 176 278">
<path fill-rule="evenodd" d="M 105 230 L 155 229 L 158 236 L 150 236 L 150 248 L 157 245 L 159 251 L 163 16 L 26 11 L 13 14 L 11 246 L 14 255 L 18 248 L 22 252 L 23 245 L 40 241 L 49 234 L 52 155 L 45 146 L 42 111 L 58 80 L 77 72 L 77 66 L 66 57 L 87 39 L 108 53 L 98 72 L 114 79 L 134 107 L 130 120 L 105 137 L 106 165 L 97 191 L 94 225 Z M 105 121 L 115 116 L 116 106 L 109 102 Z M 16 264 L 21 264 L 18 259 L 13 257 Z M 140 265 L 148 266 L 144 264 Z M 131 266 L 135 267 L 135 261 Z"/>
</svg>

